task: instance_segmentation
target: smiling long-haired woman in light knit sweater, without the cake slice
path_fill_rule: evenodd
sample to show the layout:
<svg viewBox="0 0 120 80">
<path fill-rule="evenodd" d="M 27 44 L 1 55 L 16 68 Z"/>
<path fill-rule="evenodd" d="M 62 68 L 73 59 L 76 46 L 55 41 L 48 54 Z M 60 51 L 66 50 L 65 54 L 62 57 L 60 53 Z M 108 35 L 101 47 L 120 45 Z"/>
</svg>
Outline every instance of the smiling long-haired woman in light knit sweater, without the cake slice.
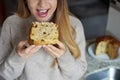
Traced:
<svg viewBox="0 0 120 80">
<path fill-rule="evenodd" d="M 58 25 L 58 48 L 24 48 L 34 21 Z M 6 80 L 79 80 L 87 69 L 85 45 L 82 24 L 69 15 L 66 0 L 19 0 L 18 11 L 3 24 L 0 75 Z"/>
</svg>

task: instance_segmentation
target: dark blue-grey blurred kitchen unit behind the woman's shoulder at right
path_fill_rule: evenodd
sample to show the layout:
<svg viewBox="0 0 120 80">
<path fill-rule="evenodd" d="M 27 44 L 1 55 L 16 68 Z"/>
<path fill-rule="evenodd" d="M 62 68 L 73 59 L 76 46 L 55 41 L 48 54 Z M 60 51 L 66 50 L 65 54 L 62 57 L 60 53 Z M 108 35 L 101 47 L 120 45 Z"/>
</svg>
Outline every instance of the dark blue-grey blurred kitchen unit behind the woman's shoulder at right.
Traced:
<svg viewBox="0 0 120 80">
<path fill-rule="evenodd" d="M 109 0 L 68 0 L 68 5 L 70 11 L 82 21 L 86 39 L 105 34 Z"/>
</svg>

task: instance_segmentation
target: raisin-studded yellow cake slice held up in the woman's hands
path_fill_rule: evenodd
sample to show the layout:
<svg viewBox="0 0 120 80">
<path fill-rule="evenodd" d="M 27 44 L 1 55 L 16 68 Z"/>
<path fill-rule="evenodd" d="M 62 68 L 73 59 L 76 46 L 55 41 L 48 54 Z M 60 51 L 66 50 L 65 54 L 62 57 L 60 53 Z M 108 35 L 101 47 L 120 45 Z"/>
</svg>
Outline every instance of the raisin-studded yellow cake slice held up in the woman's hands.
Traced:
<svg viewBox="0 0 120 80">
<path fill-rule="evenodd" d="M 58 41 L 57 25 L 53 22 L 32 22 L 29 43 L 34 45 L 56 44 Z"/>
</svg>

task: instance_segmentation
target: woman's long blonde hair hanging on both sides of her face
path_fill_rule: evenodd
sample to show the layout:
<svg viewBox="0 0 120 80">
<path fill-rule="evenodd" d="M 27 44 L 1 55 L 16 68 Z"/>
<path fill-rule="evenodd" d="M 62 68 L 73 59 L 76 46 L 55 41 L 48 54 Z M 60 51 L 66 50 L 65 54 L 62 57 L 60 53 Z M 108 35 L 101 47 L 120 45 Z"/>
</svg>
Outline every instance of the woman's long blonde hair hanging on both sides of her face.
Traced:
<svg viewBox="0 0 120 80">
<path fill-rule="evenodd" d="M 75 30 L 70 25 L 67 2 L 66 0 L 57 0 L 57 2 L 58 4 L 54 15 L 54 23 L 58 25 L 60 35 L 59 39 L 67 45 L 72 56 L 77 59 L 80 57 L 80 50 L 73 38 L 73 36 L 75 37 Z M 21 18 L 28 18 L 31 15 L 26 0 L 19 0 L 17 14 Z"/>
</svg>

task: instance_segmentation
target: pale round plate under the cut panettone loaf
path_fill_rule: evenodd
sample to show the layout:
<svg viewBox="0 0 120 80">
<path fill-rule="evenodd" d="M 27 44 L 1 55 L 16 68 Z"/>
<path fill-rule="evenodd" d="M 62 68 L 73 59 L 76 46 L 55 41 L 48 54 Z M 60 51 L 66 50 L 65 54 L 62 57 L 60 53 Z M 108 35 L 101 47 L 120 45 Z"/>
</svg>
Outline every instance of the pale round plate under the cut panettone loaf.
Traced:
<svg viewBox="0 0 120 80">
<path fill-rule="evenodd" d="M 94 59 L 105 61 L 105 62 L 115 62 L 115 61 L 120 60 L 120 48 L 118 49 L 118 57 L 116 59 L 112 59 L 112 60 L 108 57 L 108 55 L 106 53 L 96 56 L 94 51 L 95 51 L 95 43 L 92 43 L 88 46 L 88 53 Z"/>
</svg>

